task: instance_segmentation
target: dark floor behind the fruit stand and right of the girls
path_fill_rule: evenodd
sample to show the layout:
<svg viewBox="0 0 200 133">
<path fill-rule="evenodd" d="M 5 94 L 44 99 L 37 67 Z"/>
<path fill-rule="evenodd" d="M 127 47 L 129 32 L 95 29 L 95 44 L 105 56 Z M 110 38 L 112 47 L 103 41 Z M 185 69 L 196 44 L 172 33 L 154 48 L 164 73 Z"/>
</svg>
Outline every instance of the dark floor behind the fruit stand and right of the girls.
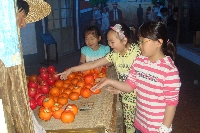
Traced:
<svg viewBox="0 0 200 133">
<path fill-rule="evenodd" d="M 65 68 L 77 65 L 80 52 L 75 52 L 59 58 L 59 63 L 55 65 L 58 72 Z M 176 115 L 173 121 L 172 133 L 200 133 L 200 66 L 177 55 L 176 65 L 180 72 L 182 82 L 180 100 Z M 26 67 L 26 74 L 38 73 L 42 65 Z M 198 80 L 198 84 L 194 81 Z M 196 82 L 196 81 L 195 81 Z"/>
</svg>

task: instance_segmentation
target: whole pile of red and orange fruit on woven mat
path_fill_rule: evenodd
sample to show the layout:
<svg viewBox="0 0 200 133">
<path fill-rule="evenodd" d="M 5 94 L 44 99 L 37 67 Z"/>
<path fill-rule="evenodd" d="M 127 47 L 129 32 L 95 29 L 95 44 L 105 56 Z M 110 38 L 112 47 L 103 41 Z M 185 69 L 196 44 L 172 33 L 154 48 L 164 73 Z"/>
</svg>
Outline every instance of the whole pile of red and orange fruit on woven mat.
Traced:
<svg viewBox="0 0 200 133">
<path fill-rule="evenodd" d="M 38 76 L 33 74 L 27 78 L 30 107 L 34 110 L 40 106 L 38 115 L 44 121 L 53 116 L 63 123 L 73 122 L 78 107 L 68 101 L 99 94 L 101 89 L 90 91 L 90 88 L 97 84 L 96 78 L 106 77 L 106 67 L 74 72 L 66 80 L 60 80 L 56 74 L 54 66 L 41 67 Z"/>
</svg>

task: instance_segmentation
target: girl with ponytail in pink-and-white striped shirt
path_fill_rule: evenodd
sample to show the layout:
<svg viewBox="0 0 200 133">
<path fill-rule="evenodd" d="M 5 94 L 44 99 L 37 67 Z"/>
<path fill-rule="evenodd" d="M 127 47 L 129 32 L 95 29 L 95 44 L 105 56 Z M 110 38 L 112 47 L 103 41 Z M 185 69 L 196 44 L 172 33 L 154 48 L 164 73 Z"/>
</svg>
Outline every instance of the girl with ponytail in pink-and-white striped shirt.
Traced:
<svg viewBox="0 0 200 133">
<path fill-rule="evenodd" d="M 138 37 L 142 55 L 134 60 L 126 81 L 101 78 L 91 91 L 107 85 L 127 93 L 136 90 L 136 133 L 171 133 L 181 86 L 175 47 L 161 22 L 144 23 Z"/>
</svg>

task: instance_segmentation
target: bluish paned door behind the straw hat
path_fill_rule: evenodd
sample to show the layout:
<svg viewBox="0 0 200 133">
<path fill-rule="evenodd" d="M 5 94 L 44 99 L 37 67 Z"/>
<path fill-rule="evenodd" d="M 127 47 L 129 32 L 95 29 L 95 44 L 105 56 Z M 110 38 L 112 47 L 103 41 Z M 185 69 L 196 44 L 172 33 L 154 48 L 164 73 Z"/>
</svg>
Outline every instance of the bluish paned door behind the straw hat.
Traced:
<svg viewBox="0 0 200 133">
<path fill-rule="evenodd" d="M 47 17 L 48 31 L 57 42 L 58 55 L 62 56 L 75 51 L 74 36 L 74 1 L 47 0 L 52 11 Z M 50 47 L 50 56 L 55 57 L 54 46 Z"/>
</svg>

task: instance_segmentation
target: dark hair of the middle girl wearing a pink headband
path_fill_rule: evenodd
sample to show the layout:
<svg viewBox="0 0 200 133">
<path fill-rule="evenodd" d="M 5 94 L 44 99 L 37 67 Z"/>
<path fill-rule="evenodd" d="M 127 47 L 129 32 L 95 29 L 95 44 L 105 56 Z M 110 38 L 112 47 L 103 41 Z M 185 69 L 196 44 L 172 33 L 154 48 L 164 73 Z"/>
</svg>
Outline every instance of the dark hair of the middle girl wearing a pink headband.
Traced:
<svg viewBox="0 0 200 133">
<path fill-rule="evenodd" d="M 116 24 L 116 23 L 115 23 Z M 115 24 L 111 25 L 111 26 L 115 26 Z M 130 29 L 125 23 L 119 23 L 122 26 L 122 31 L 124 31 L 124 35 L 127 38 L 127 43 L 131 44 L 134 42 L 137 42 L 136 38 L 136 29 L 134 26 L 131 26 L 132 29 Z M 112 30 L 110 28 L 110 30 Z"/>
</svg>

